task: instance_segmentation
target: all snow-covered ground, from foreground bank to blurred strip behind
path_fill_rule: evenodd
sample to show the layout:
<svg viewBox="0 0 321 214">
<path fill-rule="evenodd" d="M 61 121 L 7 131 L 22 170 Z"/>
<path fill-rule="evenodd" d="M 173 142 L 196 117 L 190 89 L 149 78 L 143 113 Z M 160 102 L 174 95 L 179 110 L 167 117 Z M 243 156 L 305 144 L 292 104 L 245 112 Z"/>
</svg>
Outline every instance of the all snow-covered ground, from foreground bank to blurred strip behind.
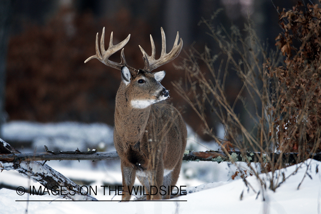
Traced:
<svg viewBox="0 0 321 214">
<path fill-rule="evenodd" d="M 92 127 L 95 128 L 91 129 Z M 103 124 L 11 122 L 2 127 L 2 133 L 4 140 L 13 141 L 14 137 L 16 140 L 22 138 L 20 140 L 31 141 L 32 146 L 37 146 L 37 148 L 40 146 L 38 143 L 41 139 L 45 142 L 41 147 L 47 145 L 49 150 L 54 150 L 51 148 L 56 147 L 59 147 L 59 150 L 75 150 L 75 147 L 86 150 L 87 146 L 93 149 L 100 145 L 107 150 L 114 150 L 112 128 Z M 94 135 L 94 138 L 91 138 L 91 135 Z M 60 138 L 60 141 L 54 140 L 56 137 Z M 199 139 L 191 132 L 189 132 L 189 139 L 190 148 L 206 150 L 195 143 Z M 64 143 L 60 144 L 61 141 Z M 83 147 L 80 147 L 77 142 L 83 142 Z M 68 143 L 70 145 L 65 145 Z M 206 145 L 211 149 L 216 149 L 215 144 Z M 34 148 L 21 151 L 29 152 L 29 150 L 34 150 Z M 38 152 L 41 152 L 39 150 Z M 86 182 L 83 185 L 97 186 L 97 195 L 92 196 L 100 201 L 68 201 L 52 195 L 40 196 L 28 193 L 19 195 L 16 190 L 3 188 L 0 190 L 0 213 L 25 213 L 26 208 L 28 213 L 321 213 L 321 176 L 318 172 L 320 163 L 315 160 L 307 160 L 301 165 L 282 169 L 281 173 L 284 172 L 287 176 L 299 167 L 297 173 L 281 184 L 276 192 L 262 190 L 254 176 L 247 177 L 247 182 L 251 187 L 246 186 L 242 179 L 232 180 L 231 175 L 234 174 L 236 167 L 229 163 L 184 161 L 177 186 L 186 185 L 187 187 L 183 188 L 187 189 L 187 195 L 167 201 L 123 203 L 117 202 L 120 196 L 113 198 L 113 193 L 109 195 L 106 191 L 104 195 L 103 188 L 100 187 L 121 184 L 121 173 L 117 161 L 94 163 L 91 161 L 48 161 L 46 164 L 72 180 Z M 261 175 L 261 177 L 268 187 L 269 181 L 266 175 Z M 298 190 L 297 187 L 303 178 Z M 2 171 L 0 184 L 8 188 L 35 186 L 37 190 L 39 189 L 38 183 L 33 183 L 16 171 Z M 137 185 L 140 184 L 137 182 Z M 265 201 L 263 201 L 263 195 Z"/>
</svg>

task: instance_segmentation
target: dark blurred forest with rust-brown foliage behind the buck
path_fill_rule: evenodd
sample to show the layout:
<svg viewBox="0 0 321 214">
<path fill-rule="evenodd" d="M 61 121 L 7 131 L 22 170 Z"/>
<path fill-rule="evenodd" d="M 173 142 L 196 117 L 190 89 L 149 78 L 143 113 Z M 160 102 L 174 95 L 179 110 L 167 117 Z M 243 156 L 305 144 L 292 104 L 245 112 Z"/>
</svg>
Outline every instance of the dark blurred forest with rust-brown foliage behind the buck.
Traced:
<svg viewBox="0 0 321 214">
<path fill-rule="evenodd" d="M 125 46 L 127 63 L 143 68 L 138 45 L 150 54 L 151 34 L 156 57 L 160 56 L 160 27 L 166 34 L 167 51 L 174 43 L 176 32 L 183 39 L 181 54 L 173 61 L 179 64 L 190 47 L 204 52 L 207 45 L 218 54 L 208 30 L 198 24 L 222 8 L 216 18 L 229 30 L 244 27 L 249 15 L 257 35 L 271 49 L 281 32 L 278 25 L 279 7 L 291 9 L 296 0 L 1 0 L 0 1 L 0 119 L 34 122 L 77 121 L 102 122 L 113 125 L 115 96 L 120 72 L 98 60 L 84 64 L 95 54 L 95 36 L 106 27 L 105 43 L 114 32 L 114 44 L 131 34 Z M 273 5 L 274 4 L 274 5 Z M 120 53 L 110 57 L 120 62 Z M 171 84 L 185 78 L 173 63 L 161 66 L 166 76 L 162 85 L 170 90 L 171 102 L 182 110 L 183 117 L 202 135 L 200 120 L 178 96 Z M 220 60 L 217 62 L 219 66 Z M 233 102 L 241 82 L 236 72 L 229 71 L 226 94 Z M 244 95 L 246 96 L 246 95 Z M 236 106 L 240 118 L 244 111 Z M 208 112 L 206 118 L 217 128 L 218 120 Z M 206 136 L 203 136 L 206 140 Z"/>
</svg>

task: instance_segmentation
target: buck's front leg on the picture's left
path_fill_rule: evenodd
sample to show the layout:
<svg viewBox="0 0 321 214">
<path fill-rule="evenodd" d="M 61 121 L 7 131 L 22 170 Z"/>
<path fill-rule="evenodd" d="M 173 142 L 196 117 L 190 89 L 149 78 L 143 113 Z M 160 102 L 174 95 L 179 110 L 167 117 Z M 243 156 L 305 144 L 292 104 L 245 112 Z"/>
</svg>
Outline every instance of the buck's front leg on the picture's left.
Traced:
<svg viewBox="0 0 321 214">
<path fill-rule="evenodd" d="M 131 194 L 129 193 L 134 185 L 136 172 L 133 169 L 133 167 L 126 166 L 122 161 L 120 162 L 120 166 L 121 166 L 121 173 L 123 177 L 123 186 L 124 186 L 124 191 L 123 191 L 121 200 L 129 201 L 131 198 Z"/>
</svg>

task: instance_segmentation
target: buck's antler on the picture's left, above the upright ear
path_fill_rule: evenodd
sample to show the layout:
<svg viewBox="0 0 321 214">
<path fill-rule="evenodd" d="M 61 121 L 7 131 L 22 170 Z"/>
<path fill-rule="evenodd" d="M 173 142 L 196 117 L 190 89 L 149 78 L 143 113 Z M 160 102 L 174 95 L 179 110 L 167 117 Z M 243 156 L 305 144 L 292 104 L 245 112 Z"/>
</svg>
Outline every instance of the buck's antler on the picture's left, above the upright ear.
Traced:
<svg viewBox="0 0 321 214">
<path fill-rule="evenodd" d="M 121 69 L 122 66 L 127 66 L 126 60 L 125 60 L 125 55 L 124 55 L 124 46 L 127 44 L 127 42 L 129 41 L 130 38 L 130 34 L 127 36 L 127 38 L 118 43 L 117 45 L 113 45 L 113 32 L 111 32 L 110 34 L 110 40 L 109 40 L 109 46 L 108 49 L 105 50 L 105 27 L 102 29 L 102 34 L 101 34 L 101 38 L 100 38 L 100 50 L 101 50 L 101 54 L 99 51 L 99 47 L 98 47 L 98 33 L 96 35 L 96 55 L 89 57 L 88 59 L 86 59 L 85 63 L 88 62 L 89 60 L 96 58 L 98 59 L 100 62 L 102 62 L 103 64 L 112 67 L 112 68 L 116 68 L 118 70 Z M 116 53 L 117 51 L 119 51 L 121 48 L 123 48 L 121 50 L 121 62 L 120 63 L 116 63 L 113 61 L 110 61 L 108 58 L 109 56 L 113 55 L 114 53 Z M 130 67 L 131 68 L 131 67 Z"/>
</svg>

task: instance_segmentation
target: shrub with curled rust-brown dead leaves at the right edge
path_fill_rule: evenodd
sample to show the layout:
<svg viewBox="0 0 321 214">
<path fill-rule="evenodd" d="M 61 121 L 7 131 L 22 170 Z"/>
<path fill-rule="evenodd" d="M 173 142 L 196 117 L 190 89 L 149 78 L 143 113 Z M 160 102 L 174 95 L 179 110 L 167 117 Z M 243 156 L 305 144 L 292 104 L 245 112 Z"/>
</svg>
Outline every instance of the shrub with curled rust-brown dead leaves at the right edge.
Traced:
<svg viewBox="0 0 321 214">
<path fill-rule="evenodd" d="M 280 13 L 283 32 L 276 45 L 286 56 L 285 65 L 270 69 L 278 79 L 282 103 L 278 149 L 299 152 L 304 160 L 309 152 L 320 152 L 321 125 L 321 9 L 298 3 Z M 275 111 L 275 108 L 271 109 Z"/>
</svg>

